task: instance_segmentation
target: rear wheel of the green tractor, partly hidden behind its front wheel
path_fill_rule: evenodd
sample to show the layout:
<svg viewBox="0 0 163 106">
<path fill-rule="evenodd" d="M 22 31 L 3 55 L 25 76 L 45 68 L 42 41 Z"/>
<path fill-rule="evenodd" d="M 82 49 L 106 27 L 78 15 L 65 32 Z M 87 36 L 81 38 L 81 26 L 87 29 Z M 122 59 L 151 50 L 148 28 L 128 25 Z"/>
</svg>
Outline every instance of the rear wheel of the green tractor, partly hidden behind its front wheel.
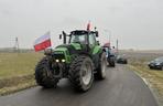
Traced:
<svg viewBox="0 0 163 106">
<path fill-rule="evenodd" d="M 95 74 L 95 77 L 97 80 L 105 80 L 106 70 L 107 70 L 107 57 L 106 57 L 106 52 L 102 52 L 99 59 L 99 66 L 97 68 L 97 73 Z"/>
</svg>

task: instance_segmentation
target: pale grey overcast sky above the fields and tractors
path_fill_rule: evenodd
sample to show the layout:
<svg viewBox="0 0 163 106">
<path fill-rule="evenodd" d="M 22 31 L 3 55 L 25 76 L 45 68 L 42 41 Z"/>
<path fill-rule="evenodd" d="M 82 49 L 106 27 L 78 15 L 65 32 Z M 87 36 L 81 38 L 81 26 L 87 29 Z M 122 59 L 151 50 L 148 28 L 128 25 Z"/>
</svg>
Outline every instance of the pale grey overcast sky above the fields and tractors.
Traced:
<svg viewBox="0 0 163 106">
<path fill-rule="evenodd" d="M 51 31 L 53 46 L 63 30 L 99 30 L 99 40 L 121 49 L 163 49 L 163 0 L 0 0 L 0 47 L 33 47 Z"/>
</svg>

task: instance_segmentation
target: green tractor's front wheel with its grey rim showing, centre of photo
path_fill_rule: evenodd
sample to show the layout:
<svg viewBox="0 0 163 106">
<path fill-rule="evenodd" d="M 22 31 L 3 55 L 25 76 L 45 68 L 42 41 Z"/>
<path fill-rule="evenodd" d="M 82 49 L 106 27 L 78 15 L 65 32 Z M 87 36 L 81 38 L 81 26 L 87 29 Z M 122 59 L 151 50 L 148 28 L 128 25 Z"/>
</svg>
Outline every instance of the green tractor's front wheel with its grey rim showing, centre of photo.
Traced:
<svg viewBox="0 0 163 106">
<path fill-rule="evenodd" d="M 88 91 L 94 82 L 94 64 L 88 56 L 78 56 L 69 68 L 69 80 L 77 91 Z"/>
</svg>

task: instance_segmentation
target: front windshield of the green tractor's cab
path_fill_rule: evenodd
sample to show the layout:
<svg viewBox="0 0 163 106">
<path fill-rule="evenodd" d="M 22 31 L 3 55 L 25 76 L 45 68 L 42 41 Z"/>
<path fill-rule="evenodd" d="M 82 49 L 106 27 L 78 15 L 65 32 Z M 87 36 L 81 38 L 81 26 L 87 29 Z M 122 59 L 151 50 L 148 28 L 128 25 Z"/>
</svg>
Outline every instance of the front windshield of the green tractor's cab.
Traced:
<svg viewBox="0 0 163 106">
<path fill-rule="evenodd" d="M 69 43 L 86 43 L 86 34 L 72 34 Z"/>
</svg>

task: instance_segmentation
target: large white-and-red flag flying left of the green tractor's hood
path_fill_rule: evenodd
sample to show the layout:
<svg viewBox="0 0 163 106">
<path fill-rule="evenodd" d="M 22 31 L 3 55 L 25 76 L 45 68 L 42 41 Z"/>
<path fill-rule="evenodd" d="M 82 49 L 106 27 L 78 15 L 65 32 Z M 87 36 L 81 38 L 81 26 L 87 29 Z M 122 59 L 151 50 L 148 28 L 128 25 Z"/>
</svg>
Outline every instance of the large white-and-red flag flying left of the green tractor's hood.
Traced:
<svg viewBox="0 0 163 106">
<path fill-rule="evenodd" d="M 35 40 L 34 50 L 35 50 L 35 52 L 42 51 L 42 50 L 50 47 L 51 45 L 52 45 L 51 44 L 51 35 L 50 35 L 50 32 L 47 32 L 44 35 L 42 35 Z"/>
</svg>

